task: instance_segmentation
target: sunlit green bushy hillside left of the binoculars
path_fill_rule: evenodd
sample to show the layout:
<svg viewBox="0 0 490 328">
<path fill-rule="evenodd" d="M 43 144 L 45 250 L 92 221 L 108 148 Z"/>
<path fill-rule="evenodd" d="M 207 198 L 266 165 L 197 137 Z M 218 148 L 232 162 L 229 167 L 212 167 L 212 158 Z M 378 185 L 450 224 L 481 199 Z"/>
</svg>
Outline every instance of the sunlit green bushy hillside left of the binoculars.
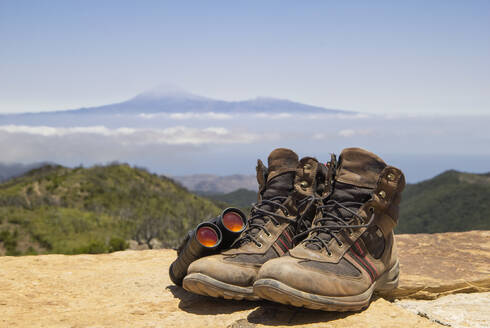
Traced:
<svg viewBox="0 0 490 328">
<path fill-rule="evenodd" d="M 0 252 L 106 252 L 155 237 L 173 247 L 219 211 L 172 180 L 128 165 L 44 166 L 0 184 Z"/>
</svg>

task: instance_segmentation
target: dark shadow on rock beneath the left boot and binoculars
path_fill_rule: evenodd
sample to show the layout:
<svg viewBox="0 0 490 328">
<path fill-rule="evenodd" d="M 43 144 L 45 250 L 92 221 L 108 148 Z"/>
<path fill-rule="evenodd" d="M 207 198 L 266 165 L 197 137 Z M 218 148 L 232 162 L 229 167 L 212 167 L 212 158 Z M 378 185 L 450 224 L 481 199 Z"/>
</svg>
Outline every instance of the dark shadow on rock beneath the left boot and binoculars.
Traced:
<svg viewBox="0 0 490 328">
<path fill-rule="evenodd" d="M 169 285 L 166 289 L 169 290 L 174 297 L 180 299 L 179 309 L 193 314 L 230 314 L 237 311 L 250 310 L 263 304 L 263 302 L 233 301 L 196 295 L 175 285 Z"/>
</svg>

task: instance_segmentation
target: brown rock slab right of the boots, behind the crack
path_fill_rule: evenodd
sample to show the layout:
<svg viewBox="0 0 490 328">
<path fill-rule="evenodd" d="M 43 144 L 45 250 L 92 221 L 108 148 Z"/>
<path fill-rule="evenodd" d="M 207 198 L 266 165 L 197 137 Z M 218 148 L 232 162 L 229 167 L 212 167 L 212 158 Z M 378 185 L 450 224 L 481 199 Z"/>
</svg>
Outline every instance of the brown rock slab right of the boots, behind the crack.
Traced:
<svg viewBox="0 0 490 328">
<path fill-rule="evenodd" d="M 400 285 L 387 298 L 490 291 L 490 231 L 396 236 Z"/>
</svg>

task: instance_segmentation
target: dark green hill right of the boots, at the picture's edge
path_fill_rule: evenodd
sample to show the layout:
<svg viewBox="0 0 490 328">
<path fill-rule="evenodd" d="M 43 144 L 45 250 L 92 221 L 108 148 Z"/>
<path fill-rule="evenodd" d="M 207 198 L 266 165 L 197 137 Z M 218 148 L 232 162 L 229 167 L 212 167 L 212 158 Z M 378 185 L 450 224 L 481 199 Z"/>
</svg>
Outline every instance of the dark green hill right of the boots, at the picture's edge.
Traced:
<svg viewBox="0 0 490 328">
<path fill-rule="evenodd" d="M 398 233 L 490 230 L 490 173 L 446 171 L 407 185 Z"/>
</svg>

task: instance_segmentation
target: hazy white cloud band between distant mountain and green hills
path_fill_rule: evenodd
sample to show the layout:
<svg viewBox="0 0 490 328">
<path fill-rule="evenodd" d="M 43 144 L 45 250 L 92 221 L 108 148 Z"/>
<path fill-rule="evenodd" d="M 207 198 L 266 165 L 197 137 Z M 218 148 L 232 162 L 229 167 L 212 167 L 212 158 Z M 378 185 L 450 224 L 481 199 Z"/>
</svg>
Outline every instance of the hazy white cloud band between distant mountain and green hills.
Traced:
<svg viewBox="0 0 490 328">
<path fill-rule="evenodd" d="M 275 115 L 247 115 L 226 121 L 94 116 L 81 117 L 76 121 L 78 126 L 71 126 L 75 122 L 71 116 L 63 120 L 48 116 L 43 121 L 14 117 L 0 123 L 1 161 L 88 165 L 120 160 L 172 174 L 232 174 L 253 170 L 255 159 L 267 158 L 276 147 L 319 159 L 328 159 L 330 152 L 338 154 L 346 147 L 362 147 L 380 155 L 490 155 L 490 122 L 486 117 L 387 120 L 383 116 L 331 115 L 303 120 L 301 116 L 274 119 Z M 406 158 L 415 161 L 411 156 Z M 409 179 L 419 174 L 416 169 L 407 174 Z M 442 166 L 426 171 L 432 176 L 441 170 Z"/>
</svg>

